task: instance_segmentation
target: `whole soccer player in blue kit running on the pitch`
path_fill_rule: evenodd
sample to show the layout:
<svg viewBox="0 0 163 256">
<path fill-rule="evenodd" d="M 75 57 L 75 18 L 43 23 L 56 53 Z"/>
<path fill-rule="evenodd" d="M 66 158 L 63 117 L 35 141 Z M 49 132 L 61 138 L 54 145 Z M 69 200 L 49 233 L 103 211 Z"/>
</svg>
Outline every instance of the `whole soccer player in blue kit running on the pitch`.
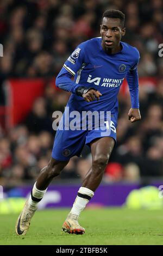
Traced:
<svg viewBox="0 0 163 256">
<path fill-rule="evenodd" d="M 67 103 L 70 113 L 110 111 L 110 121 L 105 119 L 105 129 L 110 129 L 110 132 L 102 133 L 101 127 L 95 129 L 95 123 L 92 130 L 68 130 L 63 123 L 64 129 L 58 129 L 55 136 L 51 160 L 48 166 L 41 170 L 31 196 L 18 217 L 17 235 L 26 234 L 37 203 L 42 199 L 52 179 L 60 174 L 72 156 L 80 156 L 84 145 L 87 144 L 91 149 L 92 167 L 87 172 L 70 214 L 62 225 L 62 230 L 67 233 L 85 232 L 78 223 L 78 217 L 101 183 L 114 148 L 118 115 L 117 94 L 125 77 L 131 96 L 128 118 L 131 123 L 141 119 L 137 75 L 140 56 L 135 47 L 121 41 L 126 31 L 124 20 L 125 15 L 121 11 L 106 10 L 102 16 L 101 37 L 87 40 L 77 46 L 56 80 L 57 87 L 72 93 Z M 71 80 L 72 76 L 74 81 Z M 64 113 L 64 117 L 65 115 L 67 113 Z M 104 117 L 107 117 L 106 114 Z"/>
</svg>

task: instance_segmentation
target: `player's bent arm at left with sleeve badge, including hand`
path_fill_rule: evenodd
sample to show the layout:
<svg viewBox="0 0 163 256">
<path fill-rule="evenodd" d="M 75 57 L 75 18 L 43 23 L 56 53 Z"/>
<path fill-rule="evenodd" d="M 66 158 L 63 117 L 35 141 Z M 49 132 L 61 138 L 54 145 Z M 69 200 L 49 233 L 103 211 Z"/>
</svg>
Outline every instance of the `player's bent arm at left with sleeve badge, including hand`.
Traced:
<svg viewBox="0 0 163 256">
<path fill-rule="evenodd" d="M 71 78 L 83 67 L 83 64 L 85 63 L 84 46 L 85 42 L 79 45 L 66 60 L 56 78 L 55 84 L 60 89 L 82 96 L 85 101 L 90 102 L 93 100 L 99 100 L 99 96 L 102 94 L 93 87 L 87 88 L 82 84 L 75 83 L 71 80 Z"/>
</svg>

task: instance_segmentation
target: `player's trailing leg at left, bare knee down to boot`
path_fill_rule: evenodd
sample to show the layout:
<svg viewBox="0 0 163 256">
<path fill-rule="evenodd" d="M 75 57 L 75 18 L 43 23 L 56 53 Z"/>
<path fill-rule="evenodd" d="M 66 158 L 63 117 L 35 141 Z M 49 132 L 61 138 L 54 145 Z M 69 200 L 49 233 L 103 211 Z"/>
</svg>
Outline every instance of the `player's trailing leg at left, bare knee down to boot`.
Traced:
<svg viewBox="0 0 163 256">
<path fill-rule="evenodd" d="M 30 197 L 28 198 L 24 208 L 17 219 L 16 222 L 16 234 L 26 235 L 30 220 L 32 219 L 36 209 L 37 204 L 43 198 L 49 183 L 55 176 L 58 176 L 62 169 L 67 165 L 68 161 L 57 161 L 53 158 L 48 163 L 48 166 L 43 168 L 37 181 L 34 184 Z"/>
</svg>

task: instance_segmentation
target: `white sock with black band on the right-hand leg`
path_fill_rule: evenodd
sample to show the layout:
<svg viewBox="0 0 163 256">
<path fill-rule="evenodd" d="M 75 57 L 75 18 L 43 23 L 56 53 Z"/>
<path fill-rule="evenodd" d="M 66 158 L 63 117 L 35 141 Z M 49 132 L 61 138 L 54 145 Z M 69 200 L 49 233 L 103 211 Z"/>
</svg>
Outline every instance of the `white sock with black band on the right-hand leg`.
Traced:
<svg viewBox="0 0 163 256">
<path fill-rule="evenodd" d="M 70 214 L 75 214 L 79 216 L 80 212 L 82 212 L 87 203 L 89 203 L 90 199 L 94 196 L 94 192 L 89 190 L 86 187 L 80 187 L 78 191 L 78 196 L 73 203 Z"/>
</svg>

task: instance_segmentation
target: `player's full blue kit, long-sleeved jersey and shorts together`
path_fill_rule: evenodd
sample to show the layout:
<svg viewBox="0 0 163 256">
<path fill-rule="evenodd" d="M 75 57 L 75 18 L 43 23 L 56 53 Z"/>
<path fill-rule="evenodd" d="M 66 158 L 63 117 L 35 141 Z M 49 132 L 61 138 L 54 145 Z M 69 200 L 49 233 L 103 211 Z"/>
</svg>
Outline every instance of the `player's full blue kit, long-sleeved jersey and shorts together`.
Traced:
<svg viewBox="0 0 163 256">
<path fill-rule="evenodd" d="M 55 135 L 52 151 L 53 159 L 67 161 L 72 156 L 80 156 L 84 144 L 90 143 L 97 138 L 112 137 L 116 142 L 116 127 L 118 115 L 117 94 L 124 78 L 127 78 L 131 95 L 131 107 L 139 108 L 139 89 L 137 63 L 139 52 L 136 48 L 120 42 L 122 50 L 115 54 L 106 53 L 101 45 L 102 38 L 93 38 L 80 44 L 71 56 L 66 60 L 59 72 L 57 87 L 71 92 L 64 115 L 59 123 Z M 71 80 L 74 76 L 74 81 Z M 86 102 L 78 96 L 76 89 L 80 86 L 96 88 L 101 92 L 99 101 Z M 67 110 L 68 109 L 68 110 Z M 70 129 L 70 113 L 104 112 L 104 123 L 95 124 L 94 120 L 88 120 L 86 129 L 81 126 L 82 116 L 77 119 L 78 127 L 82 129 Z M 110 119 L 106 112 L 111 113 Z M 101 118 L 101 117 L 100 117 Z M 67 120 L 68 119 L 68 120 Z M 89 130 L 89 124 L 92 129 Z M 98 128 L 95 129 L 95 126 Z M 60 129 L 60 128 L 63 129 Z M 104 128 L 104 130 L 102 129 Z"/>
</svg>

